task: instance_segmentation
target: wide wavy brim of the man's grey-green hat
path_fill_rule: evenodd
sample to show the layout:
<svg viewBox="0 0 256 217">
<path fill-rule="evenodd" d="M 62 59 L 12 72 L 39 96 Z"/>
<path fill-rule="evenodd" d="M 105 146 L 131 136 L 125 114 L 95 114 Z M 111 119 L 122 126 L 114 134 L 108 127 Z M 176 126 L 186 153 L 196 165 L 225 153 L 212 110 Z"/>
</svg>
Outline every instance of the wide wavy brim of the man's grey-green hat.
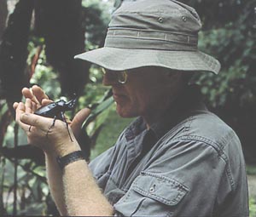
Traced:
<svg viewBox="0 0 256 217">
<path fill-rule="evenodd" d="M 215 74 L 220 70 L 218 60 L 198 50 L 170 51 L 104 47 L 78 54 L 74 58 L 87 60 L 113 71 L 143 66 L 160 66 L 180 71 L 210 71 Z"/>
</svg>

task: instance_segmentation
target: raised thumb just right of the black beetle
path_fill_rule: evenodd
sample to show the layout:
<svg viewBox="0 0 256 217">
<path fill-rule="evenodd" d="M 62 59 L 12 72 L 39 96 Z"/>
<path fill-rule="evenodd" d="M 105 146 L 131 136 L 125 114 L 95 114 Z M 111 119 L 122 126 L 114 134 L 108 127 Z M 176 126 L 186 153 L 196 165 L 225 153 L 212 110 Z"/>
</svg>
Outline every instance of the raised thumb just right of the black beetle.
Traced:
<svg viewBox="0 0 256 217">
<path fill-rule="evenodd" d="M 77 137 L 81 131 L 82 124 L 84 123 L 84 120 L 89 117 L 90 115 L 90 109 L 84 108 L 80 110 L 75 117 L 73 117 L 73 121 L 70 124 L 70 127 L 73 130 L 73 134 Z"/>
</svg>

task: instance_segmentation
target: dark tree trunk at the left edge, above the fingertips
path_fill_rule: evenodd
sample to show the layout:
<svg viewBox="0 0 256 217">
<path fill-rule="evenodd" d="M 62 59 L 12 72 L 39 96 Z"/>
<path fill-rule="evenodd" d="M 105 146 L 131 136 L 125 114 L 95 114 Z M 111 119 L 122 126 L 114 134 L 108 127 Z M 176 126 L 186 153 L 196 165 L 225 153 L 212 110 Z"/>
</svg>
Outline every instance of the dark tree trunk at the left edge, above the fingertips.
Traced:
<svg viewBox="0 0 256 217">
<path fill-rule="evenodd" d="M 21 89 L 28 85 L 26 76 L 27 43 L 34 0 L 20 0 L 9 15 L 0 43 L 0 97 L 9 105 L 21 100 Z"/>
</svg>

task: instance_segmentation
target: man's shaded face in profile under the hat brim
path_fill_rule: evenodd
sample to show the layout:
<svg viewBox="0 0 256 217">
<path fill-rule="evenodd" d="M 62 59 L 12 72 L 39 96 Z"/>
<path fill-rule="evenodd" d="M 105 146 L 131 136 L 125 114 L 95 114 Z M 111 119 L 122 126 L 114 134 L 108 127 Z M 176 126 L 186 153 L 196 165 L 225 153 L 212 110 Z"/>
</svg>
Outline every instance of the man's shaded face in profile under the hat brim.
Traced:
<svg viewBox="0 0 256 217">
<path fill-rule="evenodd" d="M 112 86 L 116 111 L 121 117 L 150 117 L 166 106 L 171 98 L 173 83 L 170 74 L 160 67 L 142 67 L 127 71 L 127 82 L 121 84 L 118 78 L 108 71 L 103 84 Z M 116 72 L 115 72 L 116 73 Z M 174 79 L 176 80 L 176 79 Z"/>
</svg>

